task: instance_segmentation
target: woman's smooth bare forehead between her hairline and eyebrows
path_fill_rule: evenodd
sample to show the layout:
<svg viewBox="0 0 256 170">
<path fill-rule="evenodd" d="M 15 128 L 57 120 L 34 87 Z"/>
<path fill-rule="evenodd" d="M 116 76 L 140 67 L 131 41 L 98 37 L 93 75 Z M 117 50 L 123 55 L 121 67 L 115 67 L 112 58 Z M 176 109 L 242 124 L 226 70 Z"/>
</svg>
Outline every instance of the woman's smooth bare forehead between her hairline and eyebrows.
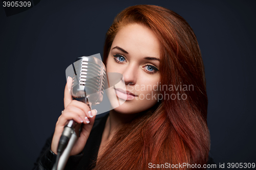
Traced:
<svg viewBox="0 0 256 170">
<path fill-rule="evenodd" d="M 114 46 L 120 46 L 129 54 L 160 58 L 160 42 L 157 36 L 151 29 L 138 24 L 121 28 L 112 43 L 112 48 Z"/>
</svg>

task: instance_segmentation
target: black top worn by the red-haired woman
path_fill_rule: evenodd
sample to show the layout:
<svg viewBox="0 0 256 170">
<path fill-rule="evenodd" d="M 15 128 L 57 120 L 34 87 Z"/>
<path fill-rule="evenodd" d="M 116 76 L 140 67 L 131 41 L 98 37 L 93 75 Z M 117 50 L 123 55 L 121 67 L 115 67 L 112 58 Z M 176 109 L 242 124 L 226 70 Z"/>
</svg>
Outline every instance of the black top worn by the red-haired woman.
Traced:
<svg viewBox="0 0 256 170">
<path fill-rule="evenodd" d="M 106 119 L 108 118 L 109 113 L 103 117 L 96 117 L 95 122 L 90 133 L 90 136 L 87 140 L 87 143 L 82 151 L 82 153 L 74 156 L 70 156 L 66 164 L 65 170 L 75 170 L 83 169 L 89 170 L 95 167 L 95 163 L 98 156 L 98 151 L 101 143 L 102 133 L 105 127 Z M 51 141 L 53 134 L 50 138 L 47 139 L 44 148 L 42 148 L 40 156 L 37 158 L 37 161 L 34 163 L 33 170 L 51 170 L 55 161 L 56 155 L 50 150 Z M 214 160 L 210 157 L 208 164 L 215 164 Z M 218 167 L 218 166 L 217 166 Z M 211 168 L 207 168 L 210 170 Z"/>
</svg>

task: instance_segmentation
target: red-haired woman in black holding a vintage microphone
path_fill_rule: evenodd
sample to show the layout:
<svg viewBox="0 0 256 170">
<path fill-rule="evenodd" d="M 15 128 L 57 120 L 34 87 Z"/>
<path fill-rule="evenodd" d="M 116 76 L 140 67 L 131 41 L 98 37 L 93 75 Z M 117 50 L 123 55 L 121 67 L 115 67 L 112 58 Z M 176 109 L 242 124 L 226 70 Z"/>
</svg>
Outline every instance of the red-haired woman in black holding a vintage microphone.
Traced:
<svg viewBox="0 0 256 170">
<path fill-rule="evenodd" d="M 69 119 L 85 125 L 66 168 L 148 169 L 167 167 L 167 162 L 173 169 L 195 167 L 177 167 L 182 163 L 206 169 L 210 139 L 204 65 L 188 23 L 163 7 L 126 8 L 106 33 L 103 62 L 107 72 L 123 74 L 126 90 L 116 90 L 126 101 L 95 120 L 97 111 L 72 101 L 66 85 L 65 109 L 37 169 L 52 166 Z"/>
</svg>

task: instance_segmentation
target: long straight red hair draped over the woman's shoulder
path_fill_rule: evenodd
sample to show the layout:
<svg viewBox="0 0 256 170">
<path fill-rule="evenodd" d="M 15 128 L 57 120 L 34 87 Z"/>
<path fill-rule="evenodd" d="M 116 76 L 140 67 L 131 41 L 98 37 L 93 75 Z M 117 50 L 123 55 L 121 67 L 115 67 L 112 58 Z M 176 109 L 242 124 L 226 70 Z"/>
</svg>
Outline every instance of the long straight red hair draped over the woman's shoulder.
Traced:
<svg viewBox="0 0 256 170">
<path fill-rule="evenodd" d="M 169 90 L 165 86 L 161 89 L 162 95 L 177 96 L 179 93 L 186 99 L 161 100 L 146 114 L 124 125 L 94 169 L 148 169 L 148 163 L 166 162 L 207 164 L 210 148 L 208 100 L 204 65 L 193 30 L 180 15 L 163 7 L 136 5 L 126 8 L 115 17 L 106 33 L 104 63 L 117 32 L 132 23 L 150 28 L 160 40 L 161 85 L 178 87 Z M 193 86 L 193 89 L 185 86 Z M 176 167 L 173 169 L 193 169 Z"/>
</svg>

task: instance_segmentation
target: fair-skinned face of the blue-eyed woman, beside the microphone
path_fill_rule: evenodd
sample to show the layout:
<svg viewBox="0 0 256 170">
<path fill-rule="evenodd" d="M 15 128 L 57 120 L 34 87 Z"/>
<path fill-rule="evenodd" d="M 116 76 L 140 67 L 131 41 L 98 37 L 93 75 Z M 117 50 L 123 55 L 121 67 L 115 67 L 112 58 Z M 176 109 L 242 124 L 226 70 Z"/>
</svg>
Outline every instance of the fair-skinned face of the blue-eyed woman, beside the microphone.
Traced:
<svg viewBox="0 0 256 170">
<path fill-rule="evenodd" d="M 138 113 L 158 101 L 160 42 L 154 32 L 138 24 L 121 28 L 106 61 L 107 72 L 123 75 L 123 86 L 115 86 L 120 113 Z"/>
</svg>

